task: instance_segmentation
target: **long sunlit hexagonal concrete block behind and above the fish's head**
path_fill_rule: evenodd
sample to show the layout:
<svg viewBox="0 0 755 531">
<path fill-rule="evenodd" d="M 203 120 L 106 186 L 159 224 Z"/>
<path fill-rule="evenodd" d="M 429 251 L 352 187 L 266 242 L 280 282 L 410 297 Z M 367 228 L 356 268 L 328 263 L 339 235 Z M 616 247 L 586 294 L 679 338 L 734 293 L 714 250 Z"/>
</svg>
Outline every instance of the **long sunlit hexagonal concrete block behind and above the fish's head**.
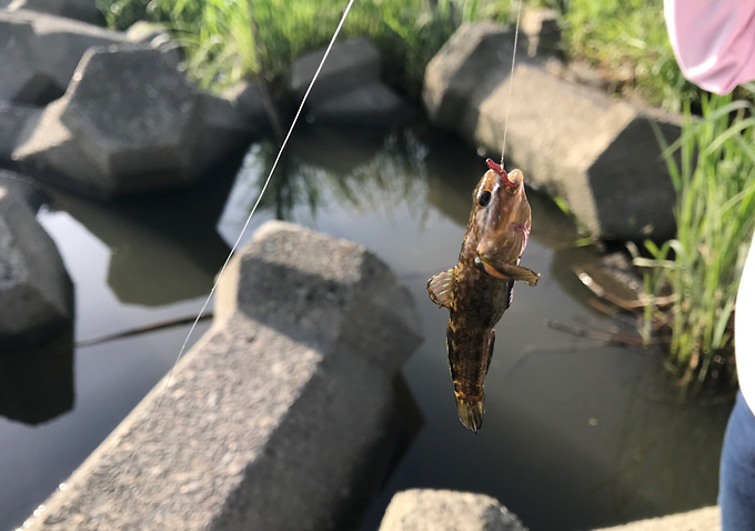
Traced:
<svg viewBox="0 0 755 531">
<path fill-rule="evenodd" d="M 513 41 L 492 22 L 462 26 L 425 70 L 431 121 L 499 158 L 511 90 L 509 168 L 563 198 L 596 238 L 672 238 L 675 194 L 652 124 L 673 140 L 675 118 L 560 79 L 524 53 L 512 78 Z"/>
</svg>

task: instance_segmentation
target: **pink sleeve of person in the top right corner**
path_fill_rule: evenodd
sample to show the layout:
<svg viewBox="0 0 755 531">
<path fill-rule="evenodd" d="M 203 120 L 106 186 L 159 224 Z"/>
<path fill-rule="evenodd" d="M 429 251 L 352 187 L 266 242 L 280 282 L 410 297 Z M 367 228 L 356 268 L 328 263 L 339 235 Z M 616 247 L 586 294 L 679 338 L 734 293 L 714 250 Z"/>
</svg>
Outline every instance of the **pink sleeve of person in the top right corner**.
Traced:
<svg viewBox="0 0 755 531">
<path fill-rule="evenodd" d="M 755 79 L 755 1 L 664 0 L 666 27 L 684 76 L 725 94 Z"/>
</svg>

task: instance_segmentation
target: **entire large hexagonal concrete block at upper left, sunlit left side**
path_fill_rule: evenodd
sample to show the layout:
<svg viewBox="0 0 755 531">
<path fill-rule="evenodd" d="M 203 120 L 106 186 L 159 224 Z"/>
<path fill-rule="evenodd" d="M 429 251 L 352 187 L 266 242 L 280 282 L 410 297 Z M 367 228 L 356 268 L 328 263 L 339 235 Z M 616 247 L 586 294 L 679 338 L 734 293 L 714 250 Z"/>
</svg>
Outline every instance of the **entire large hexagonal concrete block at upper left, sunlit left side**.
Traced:
<svg viewBox="0 0 755 531">
<path fill-rule="evenodd" d="M 66 96 L 16 142 L 12 159 L 99 198 L 184 187 L 246 146 L 266 119 L 201 92 L 149 44 L 91 48 Z"/>
</svg>

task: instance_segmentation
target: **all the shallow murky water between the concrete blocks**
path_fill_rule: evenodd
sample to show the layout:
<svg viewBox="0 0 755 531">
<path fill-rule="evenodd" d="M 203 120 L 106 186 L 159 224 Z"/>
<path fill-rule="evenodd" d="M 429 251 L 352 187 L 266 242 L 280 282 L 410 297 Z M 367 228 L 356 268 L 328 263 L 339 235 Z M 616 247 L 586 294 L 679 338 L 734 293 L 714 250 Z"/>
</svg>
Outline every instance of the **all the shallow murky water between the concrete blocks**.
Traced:
<svg viewBox="0 0 755 531">
<path fill-rule="evenodd" d="M 678 400 L 657 352 L 605 347 L 548 324 L 621 324 L 587 303 L 571 268 L 593 251 L 574 249 L 573 226 L 548 200 L 528 193 L 533 232 L 522 263 L 543 279 L 515 288 L 496 327 L 485 423 L 474 435 L 456 419 L 447 312 L 430 302 L 425 282 L 457 258 L 484 159 L 422 124 L 387 134 L 303 129 L 289 153 L 245 238 L 279 217 L 366 244 L 410 289 L 425 337 L 402 371 L 410 391 L 402 407 L 419 413 L 417 425 L 363 529 L 375 529 L 391 495 L 406 488 L 485 492 L 533 530 L 590 529 L 715 502 L 731 402 Z M 114 206 L 51 190 L 39 219 L 76 283 L 76 339 L 195 314 L 273 154 L 255 144 L 235 179 L 219 170 L 193 190 Z M 187 332 L 82 347 L 72 360 L 64 349 L 33 358 L 63 368 L 48 371 L 60 375 L 48 385 L 56 393 L 49 414 L 73 407 L 36 425 L 0 418 L 0 529 L 20 524 L 108 435 L 173 364 Z M 38 413 L 29 419 L 46 412 Z"/>
</svg>

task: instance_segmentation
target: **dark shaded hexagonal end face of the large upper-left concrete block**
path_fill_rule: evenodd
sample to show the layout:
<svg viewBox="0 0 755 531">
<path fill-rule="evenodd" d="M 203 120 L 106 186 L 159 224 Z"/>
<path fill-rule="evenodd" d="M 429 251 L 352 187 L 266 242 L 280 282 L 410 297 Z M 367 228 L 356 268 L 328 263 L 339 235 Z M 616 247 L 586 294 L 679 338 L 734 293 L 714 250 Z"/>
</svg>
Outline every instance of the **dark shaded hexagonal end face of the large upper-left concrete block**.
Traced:
<svg viewBox="0 0 755 531">
<path fill-rule="evenodd" d="M 103 188 L 169 188 L 187 179 L 200 131 L 199 99 L 151 47 L 93 48 L 68 88 L 60 119 L 102 170 Z"/>
</svg>

